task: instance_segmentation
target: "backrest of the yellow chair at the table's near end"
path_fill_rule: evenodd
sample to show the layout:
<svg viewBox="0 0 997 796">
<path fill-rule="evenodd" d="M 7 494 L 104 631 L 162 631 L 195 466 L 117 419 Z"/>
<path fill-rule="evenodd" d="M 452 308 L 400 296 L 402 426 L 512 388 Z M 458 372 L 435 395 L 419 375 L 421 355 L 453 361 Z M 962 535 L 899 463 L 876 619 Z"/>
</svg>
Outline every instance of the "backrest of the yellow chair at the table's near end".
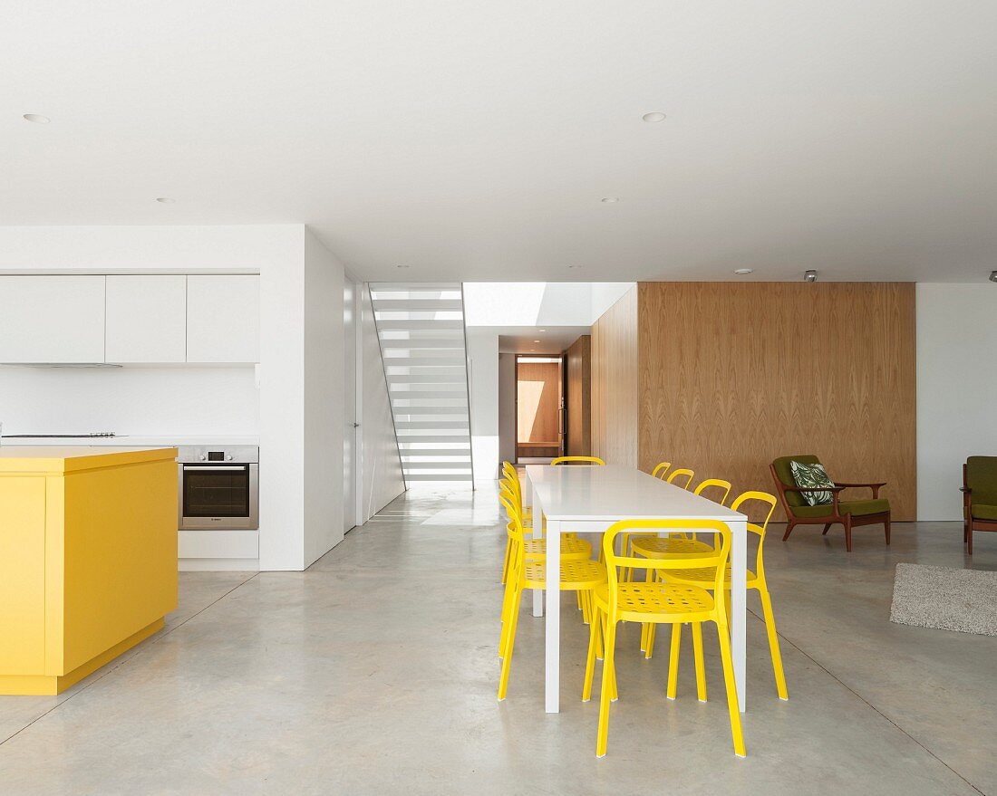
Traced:
<svg viewBox="0 0 997 796">
<path fill-rule="evenodd" d="M 720 544 L 709 551 L 697 551 L 695 553 L 675 553 L 668 558 L 635 558 L 616 553 L 616 537 L 621 533 L 633 533 L 635 531 L 709 531 L 715 532 Z M 618 569 L 715 569 L 714 594 L 723 594 L 724 579 L 726 577 L 727 560 L 731 553 L 731 530 L 723 522 L 718 520 L 620 520 L 606 529 L 602 535 L 602 555 L 605 558 L 606 570 L 609 574 L 609 615 L 613 616 L 616 611 L 617 590 L 620 586 Z M 626 582 L 624 582 L 625 584 Z M 723 613 L 723 600 L 717 601 L 717 610 L 721 617 Z"/>
</svg>

